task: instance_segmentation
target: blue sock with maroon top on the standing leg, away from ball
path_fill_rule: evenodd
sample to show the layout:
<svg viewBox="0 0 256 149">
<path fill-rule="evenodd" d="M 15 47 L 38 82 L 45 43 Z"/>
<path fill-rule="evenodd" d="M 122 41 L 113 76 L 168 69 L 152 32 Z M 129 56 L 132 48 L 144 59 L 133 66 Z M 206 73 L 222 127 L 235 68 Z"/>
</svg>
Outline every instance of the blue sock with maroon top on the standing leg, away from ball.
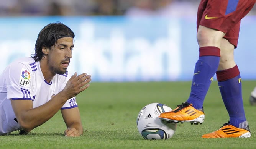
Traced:
<svg viewBox="0 0 256 149">
<path fill-rule="evenodd" d="M 216 72 L 222 100 L 230 117 L 230 124 L 238 128 L 246 128 L 242 97 L 242 80 L 238 66 Z"/>
</svg>

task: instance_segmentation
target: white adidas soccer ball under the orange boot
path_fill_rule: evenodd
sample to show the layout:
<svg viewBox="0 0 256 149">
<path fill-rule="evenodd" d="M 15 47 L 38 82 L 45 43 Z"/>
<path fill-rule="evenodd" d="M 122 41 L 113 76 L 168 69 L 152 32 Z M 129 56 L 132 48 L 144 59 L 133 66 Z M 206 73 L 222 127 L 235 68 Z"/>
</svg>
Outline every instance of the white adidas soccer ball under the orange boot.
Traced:
<svg viewBox="0 0 256 149">
<path fill-rule="evenodd" d="M 169 112 L 172 109 L 165 104 L 151 103 L 143 107 L 137 117 L 137 128 L 144 139 L 162 140 L 171 138 L 177 123 L 161 120 L 160 113 Z"/>
</svg>

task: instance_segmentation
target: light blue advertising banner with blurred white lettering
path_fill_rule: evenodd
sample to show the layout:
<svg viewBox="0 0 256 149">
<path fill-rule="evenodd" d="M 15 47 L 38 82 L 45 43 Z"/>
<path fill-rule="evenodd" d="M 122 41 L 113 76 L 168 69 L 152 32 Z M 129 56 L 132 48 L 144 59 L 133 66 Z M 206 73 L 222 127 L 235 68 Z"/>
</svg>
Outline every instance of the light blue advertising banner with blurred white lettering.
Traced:
<svg viewBox="0 0 256 149">
<path fill-rule="evenodd" d="M 0 71 L 30 57 L 41 29 L 60 21 L 75 33 L 70 73 L 93 81 L 188 81 L 199 52 L 196 18 L 21 17 L 0 18 Z M 235 61 L 242 79 L 256 79 L 256 17 L 242 20 Z"/>
</svg>

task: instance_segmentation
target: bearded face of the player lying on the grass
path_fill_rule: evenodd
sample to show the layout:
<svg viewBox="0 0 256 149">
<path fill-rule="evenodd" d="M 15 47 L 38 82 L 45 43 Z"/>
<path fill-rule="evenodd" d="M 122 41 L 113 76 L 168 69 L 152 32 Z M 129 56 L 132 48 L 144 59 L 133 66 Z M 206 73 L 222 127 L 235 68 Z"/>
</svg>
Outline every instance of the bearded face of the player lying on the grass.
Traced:
<svg viewBox="0 0 256 149">
<path fill-rule="evenodd" d="M 72 58 L 74 47 L 73 38 L 64 37 L 57 40 L 57 44 L 52 47 L 48 55 L 48 65 L 55 74 L 64 74 Z"/>
</svg>

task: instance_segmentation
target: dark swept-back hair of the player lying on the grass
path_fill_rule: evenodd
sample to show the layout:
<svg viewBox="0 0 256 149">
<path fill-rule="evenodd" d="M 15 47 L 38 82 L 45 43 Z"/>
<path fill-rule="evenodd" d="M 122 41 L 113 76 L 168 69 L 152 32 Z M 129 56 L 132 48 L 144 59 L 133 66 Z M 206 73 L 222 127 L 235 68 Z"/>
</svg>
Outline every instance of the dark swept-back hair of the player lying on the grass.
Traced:
<svg viewBox="0 0 256 149">
<path fill-rule="evenodd" d="M 56 44 L 59 38 L 62 37 L 72 37 L 75 39 L 75 34 L 68 26 L 61 22 L 50 23 L 44 26 L 44 28 L 38 34 L 35 45 L 35 53 L 31 54 L 31 57 L 34 58 L 36 62 L 40 61 L 44 56 L 42 48 L 50 48 Z"/>
</svg>

